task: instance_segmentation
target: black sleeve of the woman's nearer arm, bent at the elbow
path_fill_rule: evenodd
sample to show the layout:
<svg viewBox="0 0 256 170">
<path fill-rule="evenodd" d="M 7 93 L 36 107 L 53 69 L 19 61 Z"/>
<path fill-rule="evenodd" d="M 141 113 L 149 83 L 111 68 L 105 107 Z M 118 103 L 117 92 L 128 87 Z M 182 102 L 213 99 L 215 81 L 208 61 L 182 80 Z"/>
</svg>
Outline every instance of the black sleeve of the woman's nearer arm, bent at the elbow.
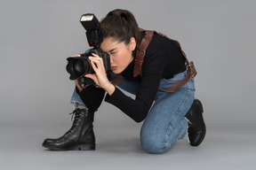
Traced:
<svg viewBox="0 0 256 170">
<path fill-rule="evenodd" d="M 156 92 L 164 70 L 164 59 L 161 50 L 150 51 L 148 58 L 144 59 L 142 66 L 142 78 L 138 93 L 133 99 L 127 97 L 120 89 L 105 97 L 105 101 L 114 104 L 132 120 L 140 122 L 144 120 L 153 104 Z"/>
</svg>

